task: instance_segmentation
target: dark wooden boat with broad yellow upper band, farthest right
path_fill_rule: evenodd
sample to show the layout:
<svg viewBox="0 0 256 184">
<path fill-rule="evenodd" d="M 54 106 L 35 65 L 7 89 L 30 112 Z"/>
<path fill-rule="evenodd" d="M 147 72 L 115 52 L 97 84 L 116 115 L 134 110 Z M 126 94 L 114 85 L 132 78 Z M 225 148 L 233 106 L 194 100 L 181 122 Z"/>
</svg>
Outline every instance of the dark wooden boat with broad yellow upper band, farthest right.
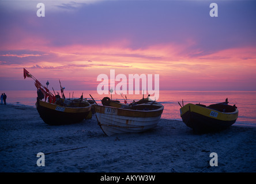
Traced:
<svg viewBox="0 0 256 184">
<path fill-rule="evenodd" d="M 180 117 L 194 133 L 221 131 L 235 123 L 238 108 L 235 105 L 228 105 L 228 99 L 223 103 L 209 106 L 187 104 L 180 108 Z"/>
</svg>

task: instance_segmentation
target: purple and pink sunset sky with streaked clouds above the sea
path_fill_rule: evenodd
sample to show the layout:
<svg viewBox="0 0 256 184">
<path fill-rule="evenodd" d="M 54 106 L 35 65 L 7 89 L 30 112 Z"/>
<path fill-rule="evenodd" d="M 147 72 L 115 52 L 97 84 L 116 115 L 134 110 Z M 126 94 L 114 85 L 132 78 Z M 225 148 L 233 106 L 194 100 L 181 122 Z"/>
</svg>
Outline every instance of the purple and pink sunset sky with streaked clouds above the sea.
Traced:
<svg viewBox="0 0 256 184">
<path fill-rule="evenodd" d="M 115 70 L 159 74 L 160 90 L 255 91 L 255 12 L 256 1 L 0 0 L 0 90 L 35 90 L 26 68 L 67 90 L 97 90 Z"/>
</svg>

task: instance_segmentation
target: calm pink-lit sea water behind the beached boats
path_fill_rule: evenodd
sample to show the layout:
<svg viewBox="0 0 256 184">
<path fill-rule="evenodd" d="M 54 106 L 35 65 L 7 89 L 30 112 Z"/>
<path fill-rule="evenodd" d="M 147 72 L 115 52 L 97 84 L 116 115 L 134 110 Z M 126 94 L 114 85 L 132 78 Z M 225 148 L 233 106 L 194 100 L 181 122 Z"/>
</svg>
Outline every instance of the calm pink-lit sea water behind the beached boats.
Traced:
<svg viewBox="0 0 256 184">
<path fill-rule="evenodd" d="M 3 91 L 7 95 L 6 102 L 9 104 L 24 104 L 35 107 L 36 90 L 35 91 Z M 89 94 L 96 100 L 97 104 L 101 104 L 100 99 L 110 97 L 108 95 L 99 95 L 96 90 L 93 91 L 65 91 L 66 98 L 79 98 L 83 93 L 84 98 L 89 98 Z M 123 95 L 124 96 L 124 95 Z M 147 95 L 144 95 L 146 97 Z M 128 102 L 142 98 L 140 95 L 126 95 Z M 216 104 L 224 102 L 228 98 L 229 105 L 236 105 L 239 110 L 239 117 L 235 125 L 246 125 L 256 127 L 256 91 L 160 91 L 159 102 L 164 105 L 162 118 L 171 120 L 180 120 L 180 104 L 182 99 L 185 104 L 198 103 L 204 105 Z M 112 99 L 118 99 L 123 102 L 121 95 L 114 94 Z"/>
</svg>

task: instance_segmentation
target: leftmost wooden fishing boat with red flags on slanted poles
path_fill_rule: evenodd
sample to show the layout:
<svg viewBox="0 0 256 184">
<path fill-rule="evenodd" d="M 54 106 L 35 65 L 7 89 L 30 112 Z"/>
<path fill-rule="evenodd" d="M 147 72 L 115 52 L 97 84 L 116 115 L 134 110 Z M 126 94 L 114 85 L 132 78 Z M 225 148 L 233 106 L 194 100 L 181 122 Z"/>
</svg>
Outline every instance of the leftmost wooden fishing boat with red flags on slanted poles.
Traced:
<svg viewBox="0 0 256 184">
<path fill-rule="evenodd" d="M 35 80 L 35 86 L 37 88 L 36 109 L 46 124 L 73 124 L 88 118 L 88 114 L 91 112 L 92 108 L 92 105 L 88 101 L 72 101 L 65 99 L 63 93 L 65 88 L 62 86 L 61 94 L 63 98 L 61 98 L 59 94 L 53 95 L 47 87 L 43 86 L 24 68 L 24 79 L 27 77 Z M 47 86 L 48 84 L 47 81 Z M 61 81 L 59 81 L 59 84 L 61 85 Z"/>
</svg>

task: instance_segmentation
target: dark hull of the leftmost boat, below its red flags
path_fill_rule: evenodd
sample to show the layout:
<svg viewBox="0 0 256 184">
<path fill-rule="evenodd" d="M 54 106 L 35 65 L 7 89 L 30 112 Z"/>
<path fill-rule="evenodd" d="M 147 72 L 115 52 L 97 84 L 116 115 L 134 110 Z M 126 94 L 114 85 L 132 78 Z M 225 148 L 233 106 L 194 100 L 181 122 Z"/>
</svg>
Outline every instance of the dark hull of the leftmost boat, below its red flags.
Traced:
<svg viewBox="0 0 256 184">
<path fill-rule="evenodd" d="M 42 120 L 48 125 L 65 125 L 81 122 L 91 111 L 91 105 L 81 108 L 68 108 L 37 101 L 36 109 Z"/>
</svg>

